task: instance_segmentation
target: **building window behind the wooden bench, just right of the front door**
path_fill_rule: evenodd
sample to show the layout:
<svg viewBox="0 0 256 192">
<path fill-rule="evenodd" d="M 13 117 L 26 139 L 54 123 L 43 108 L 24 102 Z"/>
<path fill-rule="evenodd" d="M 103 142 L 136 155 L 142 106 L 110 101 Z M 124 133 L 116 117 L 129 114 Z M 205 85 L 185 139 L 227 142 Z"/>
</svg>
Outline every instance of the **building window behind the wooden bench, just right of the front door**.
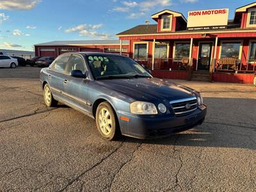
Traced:
<svg viewBox="0 0 256 192">
<path fill-rule="evenodd" d="M 239 59 L 241 43 L 222 43 L 221 58 L 236 58 Z"/>
</svg>

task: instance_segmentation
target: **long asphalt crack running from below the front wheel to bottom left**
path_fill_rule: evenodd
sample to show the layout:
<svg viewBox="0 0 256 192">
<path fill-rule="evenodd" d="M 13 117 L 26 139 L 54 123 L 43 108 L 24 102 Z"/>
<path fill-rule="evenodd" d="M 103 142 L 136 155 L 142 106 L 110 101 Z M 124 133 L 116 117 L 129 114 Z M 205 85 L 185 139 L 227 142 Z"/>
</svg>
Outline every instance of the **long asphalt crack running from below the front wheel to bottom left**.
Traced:
<svg viewBox="0 0 256 192">
<path fill-rule="evenodd" d="M 99 164 L 101 164 L 105 159 L 108 159 L 108 157 L 110 157 L 112 154 L 114 154 L 119 148 L 122 147 L 122 145 L 124 144 L 124 142 L 122 142 L 117 148 L 115 148 L 115 150 L 113 150 L 111 153 L 109 153 L 106 157 L 100 159 L 100 161 L 96 164 L 93 164 L 93 166 L 91 166 L 90 168 L 88 168 L 87 170 L 84 170 L 82 173 L 80 173 L 79 175 L 77 175 L 77 177 L 74 177 L 73 179 L 69 179 L 68 183 L 62 188 L 60 189 L 58 192 L 64 191 L 65 189 L 67 189 L 69 186 L 71 186 L 74 182 L 78 181 L 85 173 L 89 172 L 90 170 L 92 170 L 93 168 L 99 166 Z"/>
</svg>

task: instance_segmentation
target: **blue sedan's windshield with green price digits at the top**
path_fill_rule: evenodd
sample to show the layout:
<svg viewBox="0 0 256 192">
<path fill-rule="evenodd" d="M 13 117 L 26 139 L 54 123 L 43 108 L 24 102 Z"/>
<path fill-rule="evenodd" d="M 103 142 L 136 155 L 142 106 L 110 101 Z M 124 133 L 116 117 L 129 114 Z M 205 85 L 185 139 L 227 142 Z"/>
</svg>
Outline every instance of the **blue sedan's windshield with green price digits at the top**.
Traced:
<svg viewBox="0 0 256 192">
<path fill-rule="evenodd" d="M 145 68 L 124 56 L 86 56 L 95 79 L 152 77 Z"/>
</svg>

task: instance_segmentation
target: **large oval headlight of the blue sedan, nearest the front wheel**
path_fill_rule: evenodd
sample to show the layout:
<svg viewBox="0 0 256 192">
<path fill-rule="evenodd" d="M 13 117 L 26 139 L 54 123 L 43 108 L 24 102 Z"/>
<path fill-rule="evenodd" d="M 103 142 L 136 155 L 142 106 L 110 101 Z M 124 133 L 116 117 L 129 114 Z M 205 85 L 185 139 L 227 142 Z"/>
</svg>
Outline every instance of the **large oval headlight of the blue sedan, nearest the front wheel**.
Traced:
<svg viewBox="0 0 256 192">
<path fill-rule="evenodd" d="M 151 102 L 135 101 L 130 105 L 131 113 L 138 115 L 155 115 L 157 109 Z"/>
</svg>

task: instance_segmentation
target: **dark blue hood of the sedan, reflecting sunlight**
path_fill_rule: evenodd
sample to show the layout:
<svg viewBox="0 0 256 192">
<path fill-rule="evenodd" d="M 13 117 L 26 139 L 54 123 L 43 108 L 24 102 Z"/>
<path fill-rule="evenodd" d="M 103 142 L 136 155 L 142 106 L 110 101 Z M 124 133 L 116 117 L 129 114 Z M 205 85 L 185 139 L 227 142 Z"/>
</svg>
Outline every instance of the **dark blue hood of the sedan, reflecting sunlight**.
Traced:
<svg viewBox="0 0 256 192">
<path fill-rule="evenodd" d="M 177 83 L 157 78 L 104 79 L 96 81 L 102 88 L 122 93 L 129 99 L 150 101 L 195 97 L 195 91 Z M 128 99 L 128 98 L 127 98 Z"/>
</svg>

